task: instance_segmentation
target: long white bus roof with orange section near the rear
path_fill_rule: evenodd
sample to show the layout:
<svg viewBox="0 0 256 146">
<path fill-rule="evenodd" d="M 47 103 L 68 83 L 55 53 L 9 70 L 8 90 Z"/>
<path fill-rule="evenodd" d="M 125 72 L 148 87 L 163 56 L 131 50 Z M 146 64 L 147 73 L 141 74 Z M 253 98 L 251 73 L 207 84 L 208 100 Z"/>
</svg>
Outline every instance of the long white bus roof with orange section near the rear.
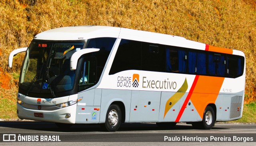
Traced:
<svg viewBox="0 0 256 146">
<path fill-rule="evenodd" d="M 34 39 L 52 41 L 74 41 L 92 39 L 97 37 L 114 37 L 121 39 L 130 39 L 135 41 L 143 41 L 149 43 L 157 43 L 198 50 L 206 50 L 207 47 L 207 45 L 204 43 L 187 40 L 184 37 L 110 26 L 60 27 L 39 33 L 34 37 Z M 215 51 L 217 47 L 210 46 L 210 48 L 214 48 L 212 51 Z M 241 51 L 233 51 L 231 49 L 225 48 L 218 49 L 222 49 L 220 53 L 244 56 L 244 53 L 242 53 Z"/>
</svg>

